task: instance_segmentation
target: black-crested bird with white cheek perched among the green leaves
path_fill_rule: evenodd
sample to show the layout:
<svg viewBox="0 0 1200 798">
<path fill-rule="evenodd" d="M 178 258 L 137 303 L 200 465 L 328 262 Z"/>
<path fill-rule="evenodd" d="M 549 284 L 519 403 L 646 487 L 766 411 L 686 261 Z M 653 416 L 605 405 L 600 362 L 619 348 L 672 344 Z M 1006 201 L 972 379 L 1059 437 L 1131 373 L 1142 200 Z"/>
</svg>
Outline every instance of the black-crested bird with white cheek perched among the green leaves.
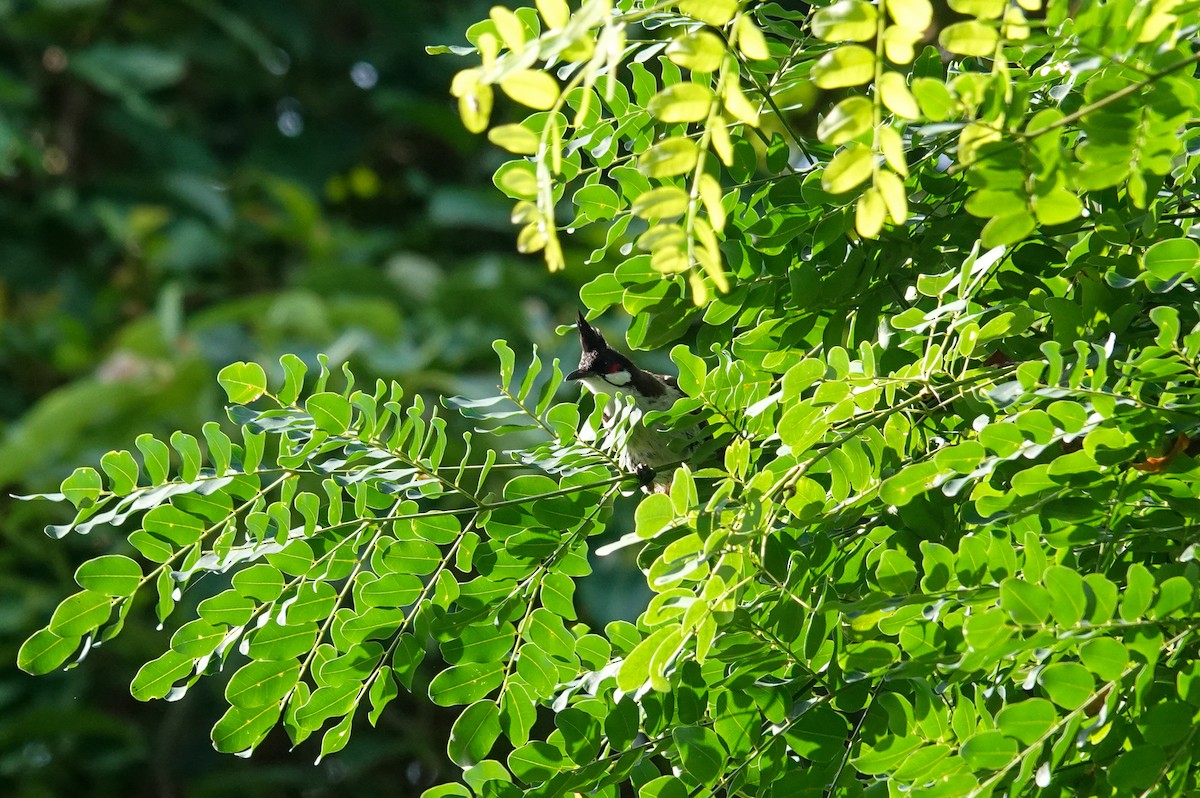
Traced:
<svg viewBox="0 0 1200 798">
<path fill-rule="evenodd" d="M 685 458 L 692 436 L 654 430 L 644 425 L 641 415 L 650 410 L 668 410 L 676 400 L 686 396 L 679 389 L 679 380 L 670 374 L 638 368 L 632 360 L 608 346 L 600 330 L 588 324 L 582 311 L 577 326 L 582 349 L 580 366 L 566 374 L 566 379 L 581 383 L 592 394 L 619 395 L 632 402 L 637 418 L 632 420 L 628 436 L 614 444 L 617 464 L 637 474 L 647 493 L 665 493 L 671 486 L 671 478 L 660 474 L 659 469 Z M 605 426 L 614 427 L 620 413 L 611 410 L 611 407 L 605 408 Z M 673 446 L 679 437 L 684 437 L 686 443 Z"/>
</svg>

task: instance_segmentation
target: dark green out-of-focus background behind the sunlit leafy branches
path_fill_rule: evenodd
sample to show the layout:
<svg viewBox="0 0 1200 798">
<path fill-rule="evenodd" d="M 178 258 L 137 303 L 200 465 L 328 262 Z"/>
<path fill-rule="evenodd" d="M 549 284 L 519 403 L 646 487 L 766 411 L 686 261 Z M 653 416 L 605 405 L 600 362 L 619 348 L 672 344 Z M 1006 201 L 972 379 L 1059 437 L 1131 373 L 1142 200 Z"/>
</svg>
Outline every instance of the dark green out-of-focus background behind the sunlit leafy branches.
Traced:
<svg viewBox="0 0 1200 798">
<path fill-rule="evenodd" d="M 463 43 L 490 5 L 0 0 L 0 796 L 415 796 L 454 779 L 452 715 L 403 695 L 317 767 L 319 736 L 216 755 L 220 680 L 175 703 L 128 695 L 170 634 L 144 601 L 80 667 L 19 672 L 76 566 L 121 538 L 53 541 L 62 510 L 10 494 L 55 490 L 140 432 L 198 433 L 223 418 L 215 376 L 235 360 L 324 352 L 359 384 L 432 398 L 490 394 L 493 338 L 577 356 L 554 326 L 594 270 L 569 253 L 551 277 L 515 253 L 491 185 L 503 154 L 448 95 L 462 62 L 424 50 Z M 636 614 L 604 604 L 636 592 L 581 594 L 594 619 Z"/>
</svg>

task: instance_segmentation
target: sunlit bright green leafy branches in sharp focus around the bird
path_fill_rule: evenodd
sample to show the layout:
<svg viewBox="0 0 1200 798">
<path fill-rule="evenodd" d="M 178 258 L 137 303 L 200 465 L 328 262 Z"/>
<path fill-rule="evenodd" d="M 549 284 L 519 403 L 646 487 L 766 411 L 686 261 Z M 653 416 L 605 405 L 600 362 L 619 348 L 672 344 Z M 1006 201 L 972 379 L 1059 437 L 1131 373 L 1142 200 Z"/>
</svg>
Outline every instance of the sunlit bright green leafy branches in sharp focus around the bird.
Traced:
<svg viewBox="0 0 1200 798">
<path fill-rule="evenodd" d="M 557 368 L 498 346 L 500 395 L 450 402 L 518 436 L 540 473 L 504 480 L 395 386 L 236 364 L 238 442 L 64 482 L 54 534 L 132 520 L 150 570 L 84 564 L 23 667 L 215 572 L 133 690 L 238 662 L 222 750 L 276 722 L 337 750 L 436 644 L 467 786 L 430 796 L 1195 791 L 1195 5 L 949 10 L 542 0 L 468 31 L 468 128 L 493 86 L 534 110 L 488 130 L 524 156 L 496 173 L 518 247 L 559 269 L 599 224 L 626 257 L 584 304 L 706 355 L 672 350 L 691 398 L 647 422 L 724 454 L 602 550 L 637 550 L 636 624 L 571 601 L 629 475 Z"/>
</svg>

